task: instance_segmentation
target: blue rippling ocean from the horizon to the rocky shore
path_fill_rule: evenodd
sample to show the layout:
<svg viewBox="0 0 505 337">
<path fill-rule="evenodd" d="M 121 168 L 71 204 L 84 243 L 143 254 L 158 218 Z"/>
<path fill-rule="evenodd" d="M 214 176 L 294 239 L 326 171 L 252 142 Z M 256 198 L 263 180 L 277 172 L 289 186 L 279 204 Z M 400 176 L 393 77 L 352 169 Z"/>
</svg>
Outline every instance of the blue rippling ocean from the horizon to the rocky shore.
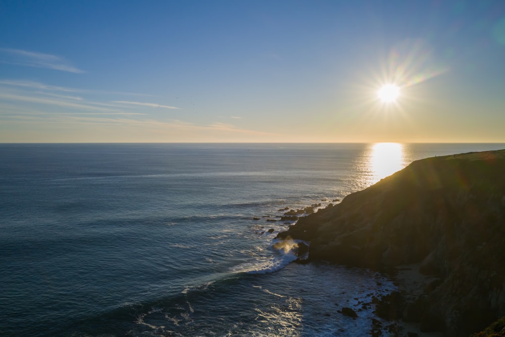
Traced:
<svg viewBox="0 0 505 337">
<path fill-rule="evenodd" d="M 289 264 L 272 248 L 279 210 L 324 207 L 413 160 L 503 148 L 0 145 L 0 335 L 363 335 L 373 308 L 337 310 L 394 285 Z"/>
</svg>

